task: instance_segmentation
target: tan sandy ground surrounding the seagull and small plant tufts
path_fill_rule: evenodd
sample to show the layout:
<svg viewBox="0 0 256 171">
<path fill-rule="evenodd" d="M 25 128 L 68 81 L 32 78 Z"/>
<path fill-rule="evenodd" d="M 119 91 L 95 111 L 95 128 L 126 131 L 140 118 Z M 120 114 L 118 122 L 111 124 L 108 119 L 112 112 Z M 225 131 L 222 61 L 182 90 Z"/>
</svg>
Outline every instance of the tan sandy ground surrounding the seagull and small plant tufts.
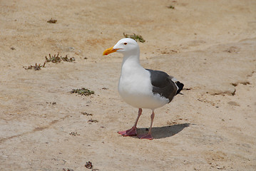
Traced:
<svg viewBox="0 0 256 171">
<path fill-rule="evenodd" d="M 118 95 L 121 55 L 102 52 L 123 32 L 187 89 L 155 110 L 154 140 L 117 133 L 138 109 Z M 48 53 L 76 61 L 24 69 Z M 0 72 L 0 170 L 256 170 L 254 0 L 1 0 Z"/>
</svg>

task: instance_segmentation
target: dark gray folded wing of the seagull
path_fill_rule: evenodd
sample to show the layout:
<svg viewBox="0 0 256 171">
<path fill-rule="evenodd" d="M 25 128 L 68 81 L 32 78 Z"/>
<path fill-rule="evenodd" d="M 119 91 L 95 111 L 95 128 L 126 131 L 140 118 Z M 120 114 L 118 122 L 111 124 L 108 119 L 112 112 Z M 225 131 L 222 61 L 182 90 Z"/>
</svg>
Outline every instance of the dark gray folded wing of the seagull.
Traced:
<svg viewBox="0 0 256 171">
<path fill-rule="evenodd" d="M 170 103 L 178 91 L 176 84 L 172 81 L 173 77 L 169 76 L 163 71 L 153 71 L 150 69 L 146 70 L 150 72 L 150 80 L 153 86 L 153 93 L 158 93 L 161 96 L 168 98 Z"/>
</svg>

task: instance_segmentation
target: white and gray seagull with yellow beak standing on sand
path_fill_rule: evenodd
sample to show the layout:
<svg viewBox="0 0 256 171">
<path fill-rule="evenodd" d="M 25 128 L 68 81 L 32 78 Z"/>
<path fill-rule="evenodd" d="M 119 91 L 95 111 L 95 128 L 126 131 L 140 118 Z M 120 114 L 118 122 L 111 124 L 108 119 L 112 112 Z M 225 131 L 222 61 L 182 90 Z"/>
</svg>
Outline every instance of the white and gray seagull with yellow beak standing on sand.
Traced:
<svg viewBox="0 0 256 171">
<path fill-rule="evenodd" d="M 115 46 L 107 48 L 103 55 L 114 52 L 123 54 L 118 92 L 126 103 L 138 108 L 133 127 L 118 133 L 123 136 L 137 135 L 138 119 L 142 109 L 147 108 L 152 110 L 150 128 L 147 134 L 137 136 L 140 139 L 153 140 L 151 129 L 155 118 L 154 110 L 170 103 L 184 85 L 163 71 L 153 71 L 140 66 L 140 48 L 132 38 L 122 38 Z"/>
</svg>

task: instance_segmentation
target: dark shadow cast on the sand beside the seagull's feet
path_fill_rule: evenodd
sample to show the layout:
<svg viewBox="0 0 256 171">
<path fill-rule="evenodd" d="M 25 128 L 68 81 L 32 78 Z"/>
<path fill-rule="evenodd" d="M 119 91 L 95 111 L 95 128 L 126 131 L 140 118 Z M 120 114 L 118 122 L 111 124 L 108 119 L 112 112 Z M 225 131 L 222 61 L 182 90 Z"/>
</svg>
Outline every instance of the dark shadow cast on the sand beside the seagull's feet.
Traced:
<svg viewBox="0 0 256 171">
<path fill-rule="evenodd" d="M 184 128 L 190 126 L 190 123 L 168 125 L 163 127 L 153 127 L 151 130 L 154 139 L 168 138 L 175 134 L 180 133 Z M 148 133 L 148 128 L 137 128 L 138 135 L 143 135 Z"/>
</svg>

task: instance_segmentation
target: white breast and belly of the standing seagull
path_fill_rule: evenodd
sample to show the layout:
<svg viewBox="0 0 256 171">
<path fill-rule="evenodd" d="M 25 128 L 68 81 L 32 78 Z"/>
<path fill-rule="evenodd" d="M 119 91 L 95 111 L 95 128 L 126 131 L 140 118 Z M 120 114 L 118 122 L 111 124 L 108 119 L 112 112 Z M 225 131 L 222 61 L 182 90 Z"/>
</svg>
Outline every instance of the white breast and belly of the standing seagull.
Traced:
<svg viewBox="0 0 256 171">
<path fill-rule="evenodd" d="M 150 72 L 138 65 L 123 63 L 118 91 L 129 105 L 135 108 L 160 108 L 169 102 L 168 98 L 153 94 Z"/>
</svg>

